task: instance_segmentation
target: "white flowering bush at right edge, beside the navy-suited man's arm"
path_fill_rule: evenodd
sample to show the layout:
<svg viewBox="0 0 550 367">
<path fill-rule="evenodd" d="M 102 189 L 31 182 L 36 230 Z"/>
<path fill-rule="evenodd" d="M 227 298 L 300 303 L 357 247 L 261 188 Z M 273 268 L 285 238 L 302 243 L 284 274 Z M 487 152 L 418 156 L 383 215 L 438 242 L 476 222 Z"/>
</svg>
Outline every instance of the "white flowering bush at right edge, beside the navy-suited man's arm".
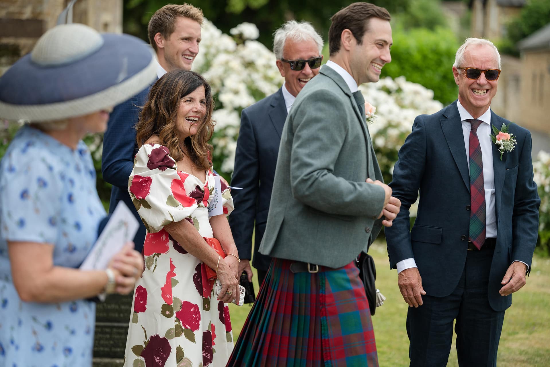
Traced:
<svg viewBox="0 0 550 367">
<path fill-rule="evenodd" d="M 550 255 L 550 154 L 541 150 L 537 160 L 533 162 L 533 171 L 538 186 L 538 196 L 541 197 L 541 207 L 538 225 L 538 244 Z"/>
</svg>

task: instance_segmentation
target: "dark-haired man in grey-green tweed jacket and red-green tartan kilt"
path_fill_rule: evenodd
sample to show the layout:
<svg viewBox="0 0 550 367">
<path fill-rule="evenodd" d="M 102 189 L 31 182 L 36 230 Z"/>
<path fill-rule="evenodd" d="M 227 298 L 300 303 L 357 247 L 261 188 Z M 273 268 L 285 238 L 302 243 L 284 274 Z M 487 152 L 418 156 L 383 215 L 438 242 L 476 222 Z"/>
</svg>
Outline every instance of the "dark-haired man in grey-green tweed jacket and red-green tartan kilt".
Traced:
<svg viewBox="0 0 550 367">
<path fill-rule="evenodd" d="M 389 20 L 369 3 L 332 17 L 329 61 L 284 125 L 260 246 L 273 261 L 228 365 L 378 365 L 354 260 L 400 202 L 382 182 L 357 85 L 391 61 Z"/>
</svg>

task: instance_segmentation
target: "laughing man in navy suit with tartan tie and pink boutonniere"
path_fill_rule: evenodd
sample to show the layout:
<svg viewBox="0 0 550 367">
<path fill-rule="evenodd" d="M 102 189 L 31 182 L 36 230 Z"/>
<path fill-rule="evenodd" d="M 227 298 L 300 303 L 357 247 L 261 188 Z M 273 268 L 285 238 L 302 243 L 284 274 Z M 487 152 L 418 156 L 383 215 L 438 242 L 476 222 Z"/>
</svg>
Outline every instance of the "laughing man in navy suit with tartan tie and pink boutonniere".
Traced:
<svg viewBox="0 0 550 367">
<path fill-rule="evenodd" d="M 538 235 L 531 135 L 489 108 L 500 73 L 491 42 L 467 39 L 453 73 L 458 101 L 416 117 L 399 150 L 389 186 L 402 206 L 386 228 L 389 262 L 410 306 L 411 366 L 447 365 L 454 320 L 459 365 L 496 366 L 504 311 L 525 284 Z M 516 143 L 501 154 L 489 134 L 503 124 Z"/>
</svg>

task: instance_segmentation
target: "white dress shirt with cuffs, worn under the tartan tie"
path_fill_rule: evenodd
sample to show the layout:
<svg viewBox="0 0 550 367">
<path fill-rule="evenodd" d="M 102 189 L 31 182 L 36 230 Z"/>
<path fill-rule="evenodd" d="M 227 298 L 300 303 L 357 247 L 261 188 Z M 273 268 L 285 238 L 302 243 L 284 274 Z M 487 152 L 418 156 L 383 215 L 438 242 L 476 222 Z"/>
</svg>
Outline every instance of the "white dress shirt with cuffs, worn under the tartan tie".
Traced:
<svg viewBox="0 0 550 367">
<path fill-rule="evenodd" d="M 464 145 L 466 147 L 466 161 L 468 166 L 470 165 L 470 129 L 471 124 L 465 120 L 472 117 L 470 112 L 460 104 L 460 101 L 456 101 L 456 107 L 458 107 L 458 113 L 460 120 L 462 121 L 462 133 L 464 135 Z M 477 128 L 477 138 L 480 141 L 481 157 L 483 160 L 483 186 L 485 188 L 485 238 L 497 237 L 497 213 L 496 213 L 496 200 L 494 197 L 494 171 L 493 171 L 493 143 L 491 141 L 491 108 L 485 111 L 485 114 L 477 118 L 477 120 L 483 121 Z M 519 260 L 514 260 L 519 261 Z M 523 262 L 523 261 L 521 261 Z M 524 263 L 524 262 L 523 262 Z M 525 264 L 525 263 L 524 263 Z M 527 265 L 527 264 L 525 264 Z M 397 272 L 400 273 L 408 268 L 416 268 L 416 262 L 414 258 L 406 258 L 399 261 L 397 264 Z M 527 266 L 529 269 L 529 266 Z"/>
</svg>

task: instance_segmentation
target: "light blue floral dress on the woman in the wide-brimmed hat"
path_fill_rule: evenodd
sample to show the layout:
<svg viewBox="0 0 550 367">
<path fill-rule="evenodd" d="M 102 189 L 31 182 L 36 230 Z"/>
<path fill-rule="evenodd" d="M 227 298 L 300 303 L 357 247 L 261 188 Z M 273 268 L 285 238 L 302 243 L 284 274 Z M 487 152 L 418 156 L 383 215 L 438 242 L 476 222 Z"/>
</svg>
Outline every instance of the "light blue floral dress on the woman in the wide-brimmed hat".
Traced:
<svg viewBox="0 0 550 367">
<path fill-rule="evenodd" d="M 95 304 L 21 301 L 7 241 L 52 244 L 54 266 L 78 268 L 105 215 L 86 144 L 23 126 L 0 161 L 0 366 L 91 366 Z"/>
</svg>

